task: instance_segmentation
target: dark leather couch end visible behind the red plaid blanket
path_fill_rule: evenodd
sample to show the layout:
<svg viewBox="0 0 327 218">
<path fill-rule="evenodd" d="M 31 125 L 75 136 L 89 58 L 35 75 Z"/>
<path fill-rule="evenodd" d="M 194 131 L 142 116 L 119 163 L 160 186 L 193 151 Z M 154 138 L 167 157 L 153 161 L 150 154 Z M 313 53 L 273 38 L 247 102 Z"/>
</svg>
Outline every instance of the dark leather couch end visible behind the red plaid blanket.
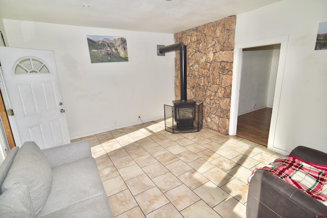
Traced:
<svg viewBox="0 0 327 218">
<path fill-rule="evenodd" d="M 290 155 L 312 163 L 327 165 L 326 153 L 305 146 L 296 147 Z"/>
</svg>

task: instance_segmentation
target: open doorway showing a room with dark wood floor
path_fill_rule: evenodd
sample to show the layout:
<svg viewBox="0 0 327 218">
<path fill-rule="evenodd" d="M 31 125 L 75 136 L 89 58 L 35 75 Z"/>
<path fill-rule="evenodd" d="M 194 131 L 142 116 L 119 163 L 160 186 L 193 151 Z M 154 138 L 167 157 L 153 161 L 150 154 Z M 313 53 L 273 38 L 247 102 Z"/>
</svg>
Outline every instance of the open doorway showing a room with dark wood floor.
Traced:
<svg viewBox="0 0 327 218">
<path fill-rule="evenodd" d="M 242 50 L 237 135 L 267 146 L 281 44 Z"/>
</svg>

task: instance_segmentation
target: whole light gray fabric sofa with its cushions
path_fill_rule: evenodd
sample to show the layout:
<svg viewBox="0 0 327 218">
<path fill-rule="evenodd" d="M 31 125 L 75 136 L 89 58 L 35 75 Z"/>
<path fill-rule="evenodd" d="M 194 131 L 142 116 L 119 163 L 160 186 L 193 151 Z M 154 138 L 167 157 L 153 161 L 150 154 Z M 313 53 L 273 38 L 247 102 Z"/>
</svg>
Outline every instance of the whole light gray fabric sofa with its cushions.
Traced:
<svg viewBox="0 0 327 218">
<path fill-rule="evenodd" d="M 14 147 L 0 186 L 0 217 L 113 217 L 88 141 Z"/>
</svg>

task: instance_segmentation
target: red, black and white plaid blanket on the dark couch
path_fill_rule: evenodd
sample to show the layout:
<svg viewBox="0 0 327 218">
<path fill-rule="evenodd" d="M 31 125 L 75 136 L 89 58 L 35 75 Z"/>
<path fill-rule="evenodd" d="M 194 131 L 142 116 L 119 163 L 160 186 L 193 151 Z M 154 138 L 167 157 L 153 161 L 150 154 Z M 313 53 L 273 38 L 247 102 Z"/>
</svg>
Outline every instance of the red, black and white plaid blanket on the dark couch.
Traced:
<svg viewBox="0 0 327 218">
<path fill-rule="evenodd" d="M 257 169 L 263 169 L 283 179 L 317 200 L 327 200 L 327 185 L 324 185 L 327 178 L 326 165 L 306 162 L 294 156 L 285 156 L 276 159 L 268 166 L 254 169 L 248 182 Z"/>
</svg>

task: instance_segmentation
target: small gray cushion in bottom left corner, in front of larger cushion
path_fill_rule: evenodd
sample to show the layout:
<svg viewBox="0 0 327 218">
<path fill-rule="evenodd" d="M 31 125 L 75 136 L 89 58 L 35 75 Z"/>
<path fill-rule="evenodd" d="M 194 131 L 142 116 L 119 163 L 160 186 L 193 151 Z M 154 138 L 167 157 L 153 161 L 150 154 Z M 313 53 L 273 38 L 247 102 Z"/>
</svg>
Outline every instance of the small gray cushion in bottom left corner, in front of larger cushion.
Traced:
<svg viewBox="0 0 327 218">
<path fill-rule="evenodd" d="M 0 196 L 0 217 L 35 217 L 30 191 L 25 184 L 16 183 Z"/>
</svg>

